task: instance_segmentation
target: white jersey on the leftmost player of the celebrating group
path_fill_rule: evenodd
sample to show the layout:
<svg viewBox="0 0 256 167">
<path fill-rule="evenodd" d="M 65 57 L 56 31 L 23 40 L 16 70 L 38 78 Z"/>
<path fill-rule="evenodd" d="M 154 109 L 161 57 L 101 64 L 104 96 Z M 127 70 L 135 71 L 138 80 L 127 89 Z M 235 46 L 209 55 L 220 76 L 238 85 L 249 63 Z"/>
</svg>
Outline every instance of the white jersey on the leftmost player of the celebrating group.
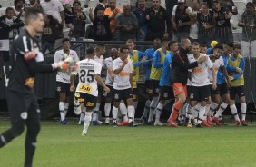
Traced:
<svg viewBox="0 0 256 167">
<path fill-rule="evenodd" d="M 67 57 L 72 57 L 75 62 L 79 61 L 79 58 L 74 50 L 70 50 Z M 64 61 L 67 57 L 64 56 L 64 50 L 59 50 L 54 54 L 54 63 Z M 70 74 L 66 72 L 58 72 L 56 75 L 56 81 L 70 84 Z"/>
</svg>

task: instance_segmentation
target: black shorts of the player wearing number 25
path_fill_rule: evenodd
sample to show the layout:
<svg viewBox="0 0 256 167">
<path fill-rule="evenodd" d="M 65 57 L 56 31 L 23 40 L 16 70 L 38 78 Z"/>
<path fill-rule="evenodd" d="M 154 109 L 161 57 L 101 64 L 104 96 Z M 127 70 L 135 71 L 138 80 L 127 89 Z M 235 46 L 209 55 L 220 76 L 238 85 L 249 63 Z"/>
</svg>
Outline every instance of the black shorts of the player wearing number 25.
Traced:
<svg viewBox="0 0 256 167">
<path fill-rule="evenodd" d="M 79 93 L 80 97 L 78 99 L 79 103 L 84 103 L 86 109 L 93 110 L 95 104 L 97 103 L 97 97 L 87 93 Z"/>
</svg>

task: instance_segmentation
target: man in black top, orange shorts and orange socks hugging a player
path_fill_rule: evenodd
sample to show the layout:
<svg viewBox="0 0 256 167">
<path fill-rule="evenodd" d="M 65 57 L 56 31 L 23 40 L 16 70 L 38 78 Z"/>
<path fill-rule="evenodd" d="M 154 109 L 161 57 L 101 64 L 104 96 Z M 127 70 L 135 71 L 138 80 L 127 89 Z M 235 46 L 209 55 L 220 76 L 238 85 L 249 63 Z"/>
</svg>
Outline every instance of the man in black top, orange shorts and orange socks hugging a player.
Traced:
<svg viewBox="0 0 256 167">
<path fill-rule="evenodd" d="M 182 108 L 183 103 L 186 101 L 188 69 L 197 67 L 198 64 L 202 64 L 207 60 L 207 57 L 202 56 L 196 62 L 189 63 L 187 54 L 190 52 L 190 49 L 191 41 L 187 38 L 182 39 L 182 47 L 172 57 L 171 82 L 175 103 L 172 107 L 171 116 L 168 119 L 168 125 L 171 127 L 178 127 L 176 119 L 179 115 L 179 111 Z"/>
</svg>

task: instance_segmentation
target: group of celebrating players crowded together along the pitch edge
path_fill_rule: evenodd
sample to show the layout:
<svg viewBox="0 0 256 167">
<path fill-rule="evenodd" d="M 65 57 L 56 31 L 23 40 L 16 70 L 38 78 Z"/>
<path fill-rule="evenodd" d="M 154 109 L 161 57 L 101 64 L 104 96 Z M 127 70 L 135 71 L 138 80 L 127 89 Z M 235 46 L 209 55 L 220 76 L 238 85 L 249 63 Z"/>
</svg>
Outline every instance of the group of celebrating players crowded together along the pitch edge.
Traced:
<svg viewBox="0 0 256 167">
<path fill-rule="evenodd" d="M 67 58 L 64 55 L 77 61 L 78 56 L 70 50 L 70 41 L 64 39 L 63 44 L 64 49 L 55 53 L 54 62 Z M 86 58 L 76 64 L 79 81 L 76 88 L 76 74 L 57 73 L 61 123 L 67 123 L 65 113 L 68 93 L 71 91 L 75 92 L 74 113 L 80 114 L 78 124 L 84 124 L 84 135 L 90 123 L 102 123 L 99 121 L 99 110 L 103 97 L 105 124 L 110 123 L 113 103 L 113 126 L 136 127 L 134 115 L 138 104 L 137 82 L 139 66 L 143 65 L 146 69 L 145 88 L 148 93 L 141 118 L 143 123 L 162 126 L 160 117 L 163 106 L 175 99 L 167 121 L 170 127 L 178 127 L 182 123 L 188 127 L 211 127 L 212 122 L 221 126 L 222 112 L 228 105 L 235 119 L 233 123 L 248 125 L 245 120 L 245 62 L 239 44 L 218 44 L 212 41 L 211 47 L 207 48 L 206 44 L 182 39 L 179 47 L 176 41 L 163 37 L 162 40 L 155 39 L 153 47 L 145 52 L 135 50 L 134 47 L 134 41 L 129 39 L 126 45 L 112 48 L 110 56 L 105 59 L 104 44 L 89 47 Z M 102 69 L 107 72 L 104 83 L 101 78 Z M 235 105 L 236 94 L 241 103 L 241 120 Z"/>
</svg>

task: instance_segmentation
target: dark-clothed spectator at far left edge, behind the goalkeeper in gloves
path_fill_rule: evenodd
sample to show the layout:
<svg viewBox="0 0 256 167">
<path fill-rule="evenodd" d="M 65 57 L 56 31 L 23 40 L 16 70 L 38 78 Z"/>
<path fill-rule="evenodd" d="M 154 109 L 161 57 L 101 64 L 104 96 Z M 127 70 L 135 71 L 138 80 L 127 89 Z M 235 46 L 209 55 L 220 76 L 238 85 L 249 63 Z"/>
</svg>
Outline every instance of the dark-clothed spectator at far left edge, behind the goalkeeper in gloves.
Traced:
<svg viewBox="0 0 256 167">
<path fill-rule="evenodd" d="M 0 40 L 5 40 L 6 43 L 9 42 L 9 51 L 12 50 L 11 46 L 15 36 L 19 34 L 19 28 L 23 26 L 23 21 L 15 16 L 15 10 L 12 7 L 7 7 L 5 15 L 0 17 Z M 9 51 L 7 49 L 5 52 L 1 52 L 4 54 L 5 61 L 9 60 Z"/>
</svg>

